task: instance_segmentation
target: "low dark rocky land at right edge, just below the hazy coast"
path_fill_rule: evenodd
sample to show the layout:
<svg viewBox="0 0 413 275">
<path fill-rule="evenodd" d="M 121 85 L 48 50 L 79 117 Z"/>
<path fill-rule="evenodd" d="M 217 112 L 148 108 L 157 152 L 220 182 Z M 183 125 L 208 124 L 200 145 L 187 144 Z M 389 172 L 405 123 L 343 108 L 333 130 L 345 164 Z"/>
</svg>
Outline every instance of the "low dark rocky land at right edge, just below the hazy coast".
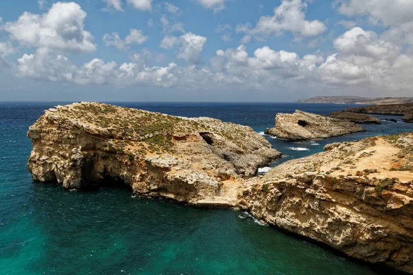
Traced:
<svg viewBox="0 0 413 275">
<path fill-rule="evenodd" d="M 352 113 L 377 113 L 382 115 L 405 115 L 405 122 L 412 122 L 413 103 L 410 104 L 377 104 L 366 107 L 347 108 Z"/>
</svg>

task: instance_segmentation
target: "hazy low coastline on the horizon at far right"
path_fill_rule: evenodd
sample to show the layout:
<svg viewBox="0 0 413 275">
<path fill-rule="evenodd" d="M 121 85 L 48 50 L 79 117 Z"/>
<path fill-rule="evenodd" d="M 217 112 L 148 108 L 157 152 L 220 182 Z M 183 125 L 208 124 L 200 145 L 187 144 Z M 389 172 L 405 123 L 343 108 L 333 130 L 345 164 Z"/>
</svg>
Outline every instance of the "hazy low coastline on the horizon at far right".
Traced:
<svg viewBox="0 0 413 275">
<path fill-rule="evenodd" d="M 360 96 L 315 96 L 297 103 L 333 103 L 333 104 L 405 104 L 413 103 L 413 98 L 362 98 Z"/>
</svg>

